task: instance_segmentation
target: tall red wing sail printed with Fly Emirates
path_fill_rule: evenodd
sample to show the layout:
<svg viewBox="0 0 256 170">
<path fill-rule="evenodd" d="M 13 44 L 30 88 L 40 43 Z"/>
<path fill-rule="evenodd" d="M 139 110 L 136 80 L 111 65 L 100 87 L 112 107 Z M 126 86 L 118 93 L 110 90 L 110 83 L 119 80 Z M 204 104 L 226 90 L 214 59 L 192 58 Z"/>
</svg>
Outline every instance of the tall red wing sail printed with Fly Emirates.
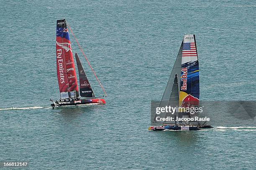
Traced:
<svg viewBox="0 0 256 170">
<path fill-rule="evenodd" d="M 60 82 L 58 59 L 57 59 L 57 72 L 59 80 L 60 92 L 69 92 L 69 97 L 78 97 L 78 85 L 77 85 L 77 75 L 74 67 L 74 59 L 72 54 L 71 43 L 69 40 L 69 32 L 67 29 L 67 24 L 65 20 L 57 20 L 56 27 L 56 54 L 59 54 L 63 59 L 63 65 L 66 67 L 64 81 L 65 87 Z M 58 55 L 57 55 L 58 57 Z M 67 80 L 67 81 L 66 81 Z"/>
</svg>

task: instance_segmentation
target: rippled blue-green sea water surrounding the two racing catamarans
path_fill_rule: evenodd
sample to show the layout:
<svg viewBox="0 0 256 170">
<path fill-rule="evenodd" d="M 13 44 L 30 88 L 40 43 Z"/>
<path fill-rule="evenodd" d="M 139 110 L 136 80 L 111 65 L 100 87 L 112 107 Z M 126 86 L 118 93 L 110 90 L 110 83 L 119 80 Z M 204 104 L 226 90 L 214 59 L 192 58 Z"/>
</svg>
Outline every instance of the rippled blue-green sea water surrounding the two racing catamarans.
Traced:
<svg viewBox="0 0 256 170">
<path fill-rule="evenodd" d="M 253 119 L 226 122 L 223 110 L 213 130 L 147 130 L 151 100 L 161 99 L 185 33 L 197 39 L 201 100 L 255 100 L 255 1 L 0 5 L 0 162 L 25 161 L 32 170 L 256 169 Z M 62 18 L 105 87 L 106 105 L 49 107 L 50 98 L 59 98 L 55 34 Z"/>
</svg>

